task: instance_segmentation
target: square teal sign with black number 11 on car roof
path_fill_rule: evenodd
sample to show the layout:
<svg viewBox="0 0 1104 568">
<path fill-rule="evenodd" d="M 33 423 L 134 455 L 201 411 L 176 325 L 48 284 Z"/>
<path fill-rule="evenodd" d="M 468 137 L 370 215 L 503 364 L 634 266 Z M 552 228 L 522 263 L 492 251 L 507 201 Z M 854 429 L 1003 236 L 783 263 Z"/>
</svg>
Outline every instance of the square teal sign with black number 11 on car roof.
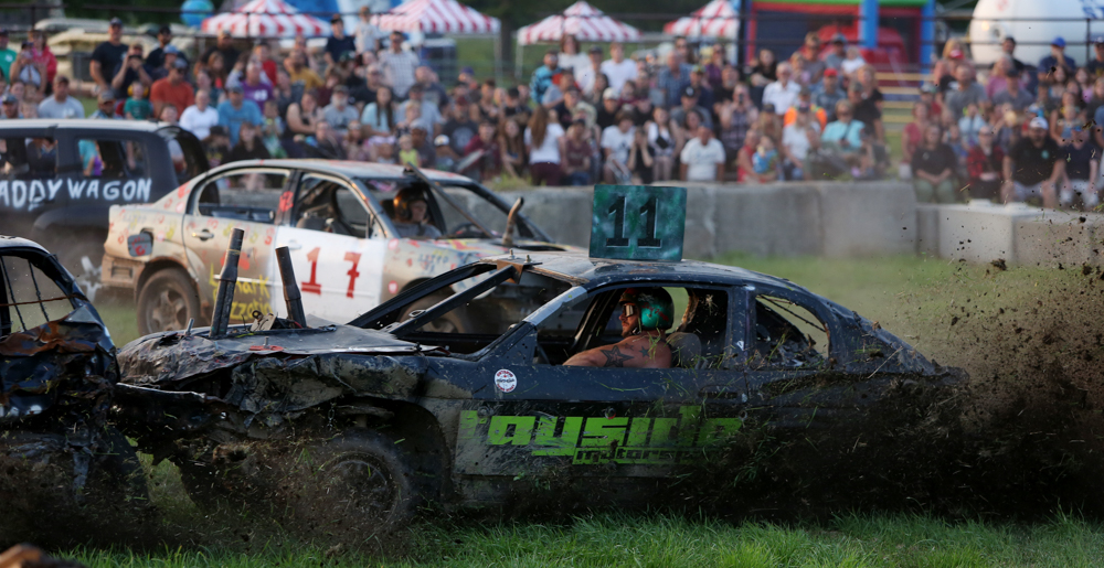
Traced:
<svg viewBox="0 0 1104 568">
<path fill-rule="evenodd" d="M 595 185 L 591 257 L 682 260 L 686 187 Z"/>
</svg>

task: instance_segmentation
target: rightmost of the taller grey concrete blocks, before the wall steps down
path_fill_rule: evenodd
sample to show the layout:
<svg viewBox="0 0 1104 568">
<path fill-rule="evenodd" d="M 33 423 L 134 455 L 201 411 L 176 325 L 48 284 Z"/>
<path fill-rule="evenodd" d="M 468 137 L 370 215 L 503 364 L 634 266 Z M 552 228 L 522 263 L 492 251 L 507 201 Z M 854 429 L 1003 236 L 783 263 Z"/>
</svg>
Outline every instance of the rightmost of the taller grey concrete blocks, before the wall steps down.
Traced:
<svg viewBox="0 0 1104 568">
<path fill-rule="evenodd" d="M 903 182 L 817 183 L 824 255 L 849 258 L 912 254 L 916 196 Z"/>
</svg>

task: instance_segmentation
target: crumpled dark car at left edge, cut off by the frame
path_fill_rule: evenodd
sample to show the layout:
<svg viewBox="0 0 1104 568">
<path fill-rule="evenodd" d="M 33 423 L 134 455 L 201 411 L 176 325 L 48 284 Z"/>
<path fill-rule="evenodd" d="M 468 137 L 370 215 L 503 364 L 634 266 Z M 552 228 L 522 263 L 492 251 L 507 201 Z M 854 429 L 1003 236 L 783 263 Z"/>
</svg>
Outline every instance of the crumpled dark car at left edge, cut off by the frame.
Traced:
<svg viewBox="0 0 1104 568">
<path fill-rule="evenodd" d="M 137 454 L 107 421 L 118 378 L 112 336 L 70 272 L 0 236 L 0 543 L 87 528 L 82 513 L 103 505 L 140 508 L 127 502 L 146 493 Z"/>
</svg>

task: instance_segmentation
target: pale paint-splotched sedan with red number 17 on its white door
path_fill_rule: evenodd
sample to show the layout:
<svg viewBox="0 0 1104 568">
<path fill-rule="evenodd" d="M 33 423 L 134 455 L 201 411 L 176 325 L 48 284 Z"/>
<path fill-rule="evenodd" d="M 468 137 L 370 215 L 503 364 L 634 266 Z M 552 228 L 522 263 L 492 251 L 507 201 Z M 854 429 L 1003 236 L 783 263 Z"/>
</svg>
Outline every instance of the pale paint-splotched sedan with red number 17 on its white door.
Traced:
<svg viewBox="0 0 1104 568">
<path fill-rule="evenodd" d="M 112 207 L 103 283 L 134 292 L 141 333 L 209 322 L 223 254 L 233 229 L 243 228 L 234 322 L 279 309 L 273 250 L 280 246 L 291 250 L 302 277 L 306 311 L 348 321 L 476 258 L 511 247 L 562 249 L 514 207 L 445 172 L 323 160 L 234 162 L 157 203 Z M 416 308 L 439 298 L 429 300 Z"/>
</svg>

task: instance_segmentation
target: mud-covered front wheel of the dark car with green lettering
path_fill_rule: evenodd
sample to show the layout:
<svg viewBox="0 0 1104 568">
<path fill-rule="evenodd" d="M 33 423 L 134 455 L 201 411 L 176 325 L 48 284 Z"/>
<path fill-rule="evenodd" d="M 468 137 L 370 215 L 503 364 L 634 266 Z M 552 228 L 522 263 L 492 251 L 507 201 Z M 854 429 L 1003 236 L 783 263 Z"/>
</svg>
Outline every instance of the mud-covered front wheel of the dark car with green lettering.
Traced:
<svg viewBox="0 0 1104 568">
<path fill-rule="evenodd" d="M 422 503 L 413 458 L 383 433 L 348 431 L 323 442 L 312 458 L 295 506 L 304 526 L 381 535 L 404 527 Z"/>
</svg>

